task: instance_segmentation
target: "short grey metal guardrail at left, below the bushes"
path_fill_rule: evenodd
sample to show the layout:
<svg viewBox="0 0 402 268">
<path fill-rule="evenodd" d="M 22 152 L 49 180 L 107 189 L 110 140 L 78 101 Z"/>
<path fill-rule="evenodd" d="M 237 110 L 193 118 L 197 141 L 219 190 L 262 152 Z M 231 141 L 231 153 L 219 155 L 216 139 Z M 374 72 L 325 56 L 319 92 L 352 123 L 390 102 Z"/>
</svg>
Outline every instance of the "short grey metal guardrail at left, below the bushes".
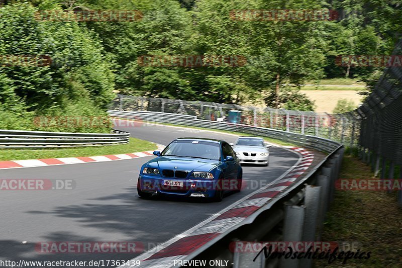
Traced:
<svg viewBox="0 0 402 268">
<path fill-rule="evenodd" d="M 68 133 L 0 130 L 0 149 L 59 148 L 125 144 L 130 133 L 114 130 L 113 133 Z"/>
</svg>

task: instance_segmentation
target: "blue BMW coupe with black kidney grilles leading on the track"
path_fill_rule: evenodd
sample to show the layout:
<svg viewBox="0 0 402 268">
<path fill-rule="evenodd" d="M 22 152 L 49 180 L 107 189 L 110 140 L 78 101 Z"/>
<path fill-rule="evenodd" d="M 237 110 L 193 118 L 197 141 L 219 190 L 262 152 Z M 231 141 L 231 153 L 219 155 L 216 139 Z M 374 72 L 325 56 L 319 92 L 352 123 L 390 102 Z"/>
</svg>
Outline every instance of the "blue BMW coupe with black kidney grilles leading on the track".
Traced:
<svg viewBox="0 0 402 268">
<path fill-rule="evenodd" d="M 242 167 L 225 141 L 179 138 L 141 167 L 137 192 L 152 195 L 209 198 L 220 202 L 226 192 L 239 192 Z"/>
</svg>

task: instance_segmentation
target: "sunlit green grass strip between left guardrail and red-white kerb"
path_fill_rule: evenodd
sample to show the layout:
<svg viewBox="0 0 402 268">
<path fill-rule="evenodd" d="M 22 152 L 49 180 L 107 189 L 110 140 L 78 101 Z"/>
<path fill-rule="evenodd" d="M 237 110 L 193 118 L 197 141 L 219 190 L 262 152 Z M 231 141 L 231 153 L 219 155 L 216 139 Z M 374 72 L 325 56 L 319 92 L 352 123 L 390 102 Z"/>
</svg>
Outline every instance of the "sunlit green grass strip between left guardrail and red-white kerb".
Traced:
<svg viewBox="0 0 402 268">
<path fill-rule="evenodd" d="M 133 153 L 156 149 L 155 143 L 130 138 L 128 144 L 94 146 L 94 147 L 74 147 L 67 149 L 0 149 L 0 160 L 25 160 L 58 157 L 79 157 L 97 156 L 107 154 Z"/>
</svg>

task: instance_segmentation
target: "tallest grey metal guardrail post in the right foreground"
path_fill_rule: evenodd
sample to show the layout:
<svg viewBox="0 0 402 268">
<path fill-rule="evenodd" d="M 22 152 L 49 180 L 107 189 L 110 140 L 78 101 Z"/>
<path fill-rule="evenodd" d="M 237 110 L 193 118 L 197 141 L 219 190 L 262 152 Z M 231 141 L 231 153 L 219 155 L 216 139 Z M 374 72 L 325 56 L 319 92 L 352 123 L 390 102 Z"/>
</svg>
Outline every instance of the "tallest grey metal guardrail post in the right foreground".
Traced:
<svg viewBox="0 0 402 268">
<path fill-rule="evenodd" d="M 316 241 L 317 223 L 320 218 L 320 201 L 321 187 L 307 185 L 305 194 L 306 217 L 302 241 Z M 312 259 L 304 258 L 300 261 L 300 264 L 303 268 L 311 267 Z"/>
</svg>

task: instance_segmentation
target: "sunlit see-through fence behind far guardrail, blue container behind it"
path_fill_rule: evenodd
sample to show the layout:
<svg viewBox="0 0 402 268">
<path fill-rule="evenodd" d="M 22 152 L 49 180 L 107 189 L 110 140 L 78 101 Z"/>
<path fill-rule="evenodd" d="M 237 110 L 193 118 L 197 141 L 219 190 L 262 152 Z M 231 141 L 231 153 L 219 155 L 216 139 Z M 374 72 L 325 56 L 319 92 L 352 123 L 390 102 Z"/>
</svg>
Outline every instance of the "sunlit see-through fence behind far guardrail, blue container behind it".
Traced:
<svg viewBox="0 0 402 268">
<path fill-rule="evenodd" d="M 360 121 L 354 113 L 291 111 L 268 107 L 228 105 L 209 102 L 190 102 L 160 98 L 118 95 L 110 109 L 121 111 L 152 111 L 193 115 L 198 119 L 225 121 L 287 132 L 313 135 L 357 146 Z"/>
</svg>

